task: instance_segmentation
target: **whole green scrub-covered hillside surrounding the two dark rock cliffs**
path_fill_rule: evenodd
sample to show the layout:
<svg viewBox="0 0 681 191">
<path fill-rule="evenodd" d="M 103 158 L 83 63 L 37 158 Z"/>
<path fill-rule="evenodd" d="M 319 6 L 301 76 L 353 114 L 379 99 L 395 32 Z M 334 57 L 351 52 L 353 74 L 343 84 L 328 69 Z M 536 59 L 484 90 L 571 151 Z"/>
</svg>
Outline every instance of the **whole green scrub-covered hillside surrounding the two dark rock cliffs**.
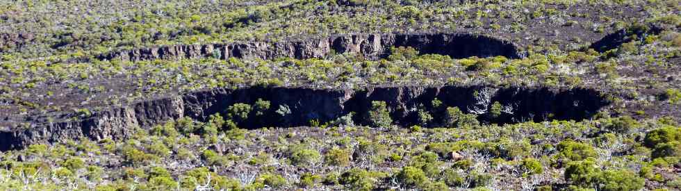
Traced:
<svg viewBox="0 0 681 191">
<path fill-rule="evenodd" d="M 126 127 L 126 138 L 0 151 L 0 190 L 681 190 L 680 9 L 673 0 L 3 1 L 2 133 L 213 88 L 589 88 L 611 103 L 580 122 L 547 114 L 500 124 L 512 106 L 482 89 L 475 97 L 488 99 L 473 108 L 414 106 L 414 126 L 397 126 L 388 103 L 373 101 L 362 115 L 252 129 L 291 114 L 258 99 Z M 443 31 L 507 40 L 519 58 L 392 47 L 381 59 L 220 59 L 219 50 L 96 59 L 168 44 Z"/>
</svg>

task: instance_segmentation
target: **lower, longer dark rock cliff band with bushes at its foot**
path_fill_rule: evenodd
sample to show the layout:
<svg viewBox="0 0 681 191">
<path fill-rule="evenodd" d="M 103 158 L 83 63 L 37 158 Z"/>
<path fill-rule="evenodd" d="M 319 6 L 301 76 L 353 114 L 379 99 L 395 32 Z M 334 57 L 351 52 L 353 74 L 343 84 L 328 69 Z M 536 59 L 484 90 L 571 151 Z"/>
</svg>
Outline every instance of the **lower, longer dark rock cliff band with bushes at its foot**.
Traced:
<svg viewBox="0 0 681 191">
<path fill-rule="evenodd" d="M 154 124 L 180 117 L 205 121 L 208 116 L 221 113 L 234 103 L 254 103 L 257 99 L 270 101 L 270 109 L 259 117 L 249 117 L 241 126 L 305 126 L 313 119 L 329 122 L 354 113 L 355 124 L 368 124 L 366 117 L 372 101 L 386 101 L 394 124 L 418 124 L 418 109 L 436 110 L 432 101 L 438 99 L 445 107 L 466 108 L 477 103 L 475 92 L 491 90 L 491 102 L 513 106 L 512 113 L 483 121 L 513 123 L 524 120 L 586 119 L 608 101 L 594 90 L 548 88 L 489 88 L 482 86 L 444 87 L 386 87 L 367 90 L 315 90 L 309 88 L 243 88 L 215 89 L 165 97 L 120 108 L 98 110 L 89 117 L 41 122 L 32 128 L 0 131 L 0 150 L 19 149 L 29 144 L 62 142 L 69 139 L 90 138 L 121 140 L 131 135 L 134 127 L 149 128 Z M 275 112 L 284 106 L 290 113 Z M 441 116 L 433 114 L 435 121 Z"/>
</svg>

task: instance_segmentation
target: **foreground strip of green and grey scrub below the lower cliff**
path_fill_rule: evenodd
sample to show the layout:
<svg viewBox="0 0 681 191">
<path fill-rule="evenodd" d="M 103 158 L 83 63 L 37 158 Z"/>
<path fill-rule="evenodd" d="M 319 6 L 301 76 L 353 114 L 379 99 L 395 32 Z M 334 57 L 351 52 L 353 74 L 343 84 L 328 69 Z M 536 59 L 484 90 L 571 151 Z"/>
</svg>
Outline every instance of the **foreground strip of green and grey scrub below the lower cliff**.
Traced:
<svg viewBox="0 0 681 191">
<path fill-rule="evenodd" d="M 124 142 L 67 140 L 6 151 L 1 155 L 0 187 L 681 188 L 681 177 L 673 172 L 681 165 L 681 127 L 668 118 L 605 117 L 458 128 L 323 125 L 251 131 L 231 127 L 219 116 L 211 118 L 208 122 L 182 118 L 149 130 L 137 128 Z M 386 119 L 377 119 L 381 120 Z M 630 131 L 608 128 L 621 120 L 631 120 L 627 122 Z"/>
</svg>

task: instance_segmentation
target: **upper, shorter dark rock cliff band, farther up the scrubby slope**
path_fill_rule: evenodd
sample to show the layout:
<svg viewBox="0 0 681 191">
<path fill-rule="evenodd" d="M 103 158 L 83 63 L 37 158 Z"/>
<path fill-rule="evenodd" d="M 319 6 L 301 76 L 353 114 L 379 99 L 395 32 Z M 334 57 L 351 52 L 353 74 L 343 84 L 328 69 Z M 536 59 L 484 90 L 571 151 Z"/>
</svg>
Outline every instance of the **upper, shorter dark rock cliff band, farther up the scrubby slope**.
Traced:
<svg viewBox="0 0 681 191">
<path fill-rule="evenodd" d="M 356 34 L 284 42 L 236 42 L 230 44 L 180 44 L 113 51 L 99 60 L 177 60 L 181 58 L 322 58 L 332 53 L 358 53 L 366 58 L 388 56 L 391 47 L 413 47 L 420 53 L 438 53 L 452 58 L 506 56 L 517 58 L 511 42 L 461 33 Z"/>
</svg>

